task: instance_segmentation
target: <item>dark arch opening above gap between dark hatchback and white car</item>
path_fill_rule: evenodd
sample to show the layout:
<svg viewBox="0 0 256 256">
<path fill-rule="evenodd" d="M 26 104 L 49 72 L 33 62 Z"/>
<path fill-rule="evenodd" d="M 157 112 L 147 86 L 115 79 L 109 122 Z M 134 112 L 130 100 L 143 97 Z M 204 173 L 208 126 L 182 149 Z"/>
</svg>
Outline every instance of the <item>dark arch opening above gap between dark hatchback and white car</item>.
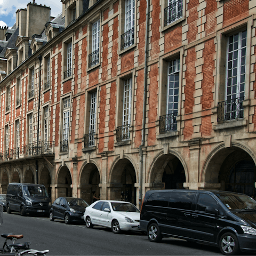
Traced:
<svg viewBox="0 0 256 256">
<path fill-rule="evenodd" d="M 80 177 L 79 197 L 83 198 L 87 203 L 93 202 L 92 191 L 95 196 L 100 198 L 100 173 L 97 166 L 93 163 L 86 164 L 82 170 Z"/>
</svg>

